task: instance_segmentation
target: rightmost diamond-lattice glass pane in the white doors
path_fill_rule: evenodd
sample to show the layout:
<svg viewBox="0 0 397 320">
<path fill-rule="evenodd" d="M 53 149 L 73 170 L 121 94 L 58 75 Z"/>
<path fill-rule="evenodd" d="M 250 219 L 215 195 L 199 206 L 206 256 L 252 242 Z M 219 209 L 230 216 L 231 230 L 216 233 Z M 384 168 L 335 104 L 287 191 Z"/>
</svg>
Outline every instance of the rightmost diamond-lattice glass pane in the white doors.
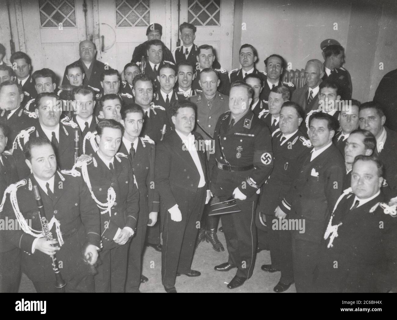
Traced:
<svg viewBox="0 0 397 320">
<path fill-rule="evenodd" d="M 187 19 L 193 25 L 220 25 L 220 0 L 188 0 Z"/>
</svg>

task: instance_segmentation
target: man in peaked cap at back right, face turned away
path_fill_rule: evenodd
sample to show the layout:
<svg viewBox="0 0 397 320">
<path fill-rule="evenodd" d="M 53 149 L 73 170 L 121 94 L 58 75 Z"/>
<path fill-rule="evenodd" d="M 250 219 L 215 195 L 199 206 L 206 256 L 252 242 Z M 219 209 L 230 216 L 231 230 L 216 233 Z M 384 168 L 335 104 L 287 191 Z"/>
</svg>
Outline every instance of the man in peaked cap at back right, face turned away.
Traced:
<svg viewBox="0 0 397 320">
<path fill-rule="evenodd" d="M 349 71 L 343 68 L 345 63 L 345 49 L 334 39 L 321 42 L 320 48 L 324 58 L 323 80 L 335 81 L 340 88 L 342 100 L 349 100 L 352 94 L 351 77 Z"/>
</svg>

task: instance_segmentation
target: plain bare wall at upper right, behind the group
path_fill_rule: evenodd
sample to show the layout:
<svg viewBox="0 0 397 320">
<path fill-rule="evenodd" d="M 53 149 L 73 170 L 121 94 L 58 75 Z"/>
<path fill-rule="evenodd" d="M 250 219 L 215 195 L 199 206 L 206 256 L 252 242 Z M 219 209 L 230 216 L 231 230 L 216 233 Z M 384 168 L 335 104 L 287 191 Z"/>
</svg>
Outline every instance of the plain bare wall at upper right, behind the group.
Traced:
<svg viewBox="0 0 397 320">
<path fill-rule="evenodd" d="M 292 69 L 322 58 L 320 43 L 332 38 L 345 48 L 353 83 L 353 98 L 373 98 L 383 75 L 397 67 L 397 10 L 395 0 L 236 0 L 243 2 L 241 39 L 258 50 L 256 67 L 264 70 L 264 59 L 277 53 L 291 62 Z M 337 30 L 335 30 L 337 23 Z M 235 30 L 241 23 L 235 23 Z M 234 48 L 234 47 L 233 47 Z M 233 50 L 234 52 L 235 50 Z M 384 70 L 379 70 L 384 62 Z M 238 50 L 233 68 L 240 67 Z"/>
</svg>

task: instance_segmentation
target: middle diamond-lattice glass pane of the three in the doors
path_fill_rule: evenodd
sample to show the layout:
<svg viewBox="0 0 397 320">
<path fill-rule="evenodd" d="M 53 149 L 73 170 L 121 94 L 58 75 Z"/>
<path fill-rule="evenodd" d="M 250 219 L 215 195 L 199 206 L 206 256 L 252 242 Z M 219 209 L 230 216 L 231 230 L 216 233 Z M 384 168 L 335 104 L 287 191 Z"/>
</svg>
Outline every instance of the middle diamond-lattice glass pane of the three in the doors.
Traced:
<svg viewBox="0 0 397 320">
<path fill-rule="evenodd" d="M 150 0 L 117 0 L 116 28 L 146 27 L 150 23 Z"/>
</svg>

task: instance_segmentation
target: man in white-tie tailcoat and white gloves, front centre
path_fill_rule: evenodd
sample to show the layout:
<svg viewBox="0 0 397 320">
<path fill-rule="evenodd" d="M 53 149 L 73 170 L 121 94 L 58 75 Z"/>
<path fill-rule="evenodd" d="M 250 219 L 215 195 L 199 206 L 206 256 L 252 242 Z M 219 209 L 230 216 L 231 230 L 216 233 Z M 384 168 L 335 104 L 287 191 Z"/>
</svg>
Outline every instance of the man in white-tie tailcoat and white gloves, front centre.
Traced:
<svg viewBox="0 0 397 320">
<path fill-rule="evenodd" d="M 156 148 L 155 185 L 161 198 L 163 228 L 162 284 L 175 293 L 175 278 L 200 276 L 191 269 L 197 221 L 211 198 L 210 175 L 202 137 L 193 131 L 197 106 L 187 100 L 172 104 L 173 131 Z M 193 132 L 193 133 L 192 133 Z"/>
</svg>

